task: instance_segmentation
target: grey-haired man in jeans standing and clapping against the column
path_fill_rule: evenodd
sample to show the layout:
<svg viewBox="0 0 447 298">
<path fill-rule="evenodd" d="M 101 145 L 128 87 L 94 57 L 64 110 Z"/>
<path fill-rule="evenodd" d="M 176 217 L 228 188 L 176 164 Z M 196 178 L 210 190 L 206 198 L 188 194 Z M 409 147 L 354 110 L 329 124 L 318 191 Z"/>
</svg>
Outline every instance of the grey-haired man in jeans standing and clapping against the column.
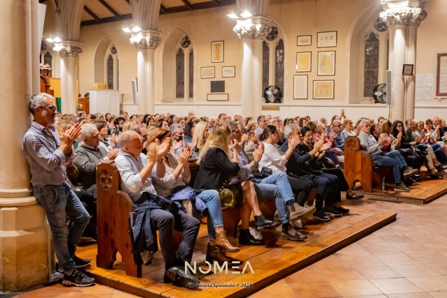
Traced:
<svg viewBox="0 0 447 298">
<path fill-rule="evenodd" d="M 94 278 L 80 271 L 90 265 L 90 260 L 75 256 L 78 241 L 89 223 L 89 214 L 65 182 L 66 164 L 73 159 L 73 140 L 80 136 L 81 127 L 79 124 L 68 126 L 59 137 L 54 130 L 56 101 L 50 94 L 31 96 L 28 108 L 34 121 L 23 137 L 22 151 L 31 170 L 34 197 L 45 209 L 54 251 L 64 270 L 62 283 L 78 287 L 93 285 Z M 67 216 L 73 221 L 70 229 Z"/>
</svg>

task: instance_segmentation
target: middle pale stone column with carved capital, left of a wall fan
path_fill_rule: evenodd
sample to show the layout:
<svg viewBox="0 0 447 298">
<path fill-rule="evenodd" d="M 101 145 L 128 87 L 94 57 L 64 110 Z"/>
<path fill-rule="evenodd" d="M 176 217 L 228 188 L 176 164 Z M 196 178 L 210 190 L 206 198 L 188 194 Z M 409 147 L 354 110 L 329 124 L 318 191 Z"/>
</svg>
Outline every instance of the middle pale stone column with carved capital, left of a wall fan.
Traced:
<svg viewBox="0 0 447 298">
<path fill-rule="evenodd" d="M 263 103 L 263 38 L 270 29 L 265 17 L 237 20 L 233 32 L 242 39 L 242 114 L 258 117 Z"/>
</svg>

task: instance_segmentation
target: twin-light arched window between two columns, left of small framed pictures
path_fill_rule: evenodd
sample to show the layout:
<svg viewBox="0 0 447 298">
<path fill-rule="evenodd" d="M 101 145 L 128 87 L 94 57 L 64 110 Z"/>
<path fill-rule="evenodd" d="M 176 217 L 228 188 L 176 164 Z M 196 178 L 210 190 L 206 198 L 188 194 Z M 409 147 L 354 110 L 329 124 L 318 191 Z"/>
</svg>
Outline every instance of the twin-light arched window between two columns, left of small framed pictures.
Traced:
<svg viewBox="0 0 447 298">
<path fill-rule="evenodd" d="M 180 38 L 175 54 L 175 98 L 189 100 L 194 96 L 194 53 L 189 36 Z"/>
</svg>

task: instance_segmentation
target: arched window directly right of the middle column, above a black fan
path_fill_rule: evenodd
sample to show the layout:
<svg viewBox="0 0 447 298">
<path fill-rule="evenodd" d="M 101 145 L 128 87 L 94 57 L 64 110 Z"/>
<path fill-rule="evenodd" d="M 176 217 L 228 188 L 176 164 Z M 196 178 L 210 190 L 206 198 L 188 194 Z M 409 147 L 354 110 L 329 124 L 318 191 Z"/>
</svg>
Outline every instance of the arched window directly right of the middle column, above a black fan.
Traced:
<svg viewBox="0 0 447 298">
<path fill-rule="evenodd" d="M 284 94 L 284 57 L 281 33 L 272 26 L 263 40 L 263 91 L 269 86 L 277 86 Z"/>
</svg>

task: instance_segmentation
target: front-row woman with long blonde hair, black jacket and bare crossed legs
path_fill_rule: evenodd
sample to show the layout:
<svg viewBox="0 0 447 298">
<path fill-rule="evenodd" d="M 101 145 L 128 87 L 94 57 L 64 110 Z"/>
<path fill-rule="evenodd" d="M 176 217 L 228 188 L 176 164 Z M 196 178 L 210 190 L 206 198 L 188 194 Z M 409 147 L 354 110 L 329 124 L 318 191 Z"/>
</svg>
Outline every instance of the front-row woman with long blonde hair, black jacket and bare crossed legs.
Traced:
<svg viewBox="0 0 447 298">
<path fill-rule="evenodd" d="M 217 125 L 211 131 L 205 145 L 200 150 L 198 163 L 200 169 L 196 177 L 194 188 L 196 189 L 214 189 L 219 191 L 223 184 L 230 181 L 231 177 L 237 176 L 240 166 L 238 160 L 239 144 L 236 140 L 231 140 L 230 128 L 226 125 Z M 230 150 L 233 151 L 233 158 L 229 158 Z M 249 232 L 249 221 L 251 211 L 254 212 L 255 224 L 258 230 L 267 228 L 276 228 L 281 223 L 270 221 L 263 216 L 259 209 L 256 190 L 251 181 L 242 181 L 236 184 L 242 188 L 242 200 L 236 198 L 234 207 L 241 204 L 240 214 L 242 219 L 242 228 L 240 230 L 239 243 L 246 245 L 263 245 L 263 241 L 255 239 Z"/>
</svg>

